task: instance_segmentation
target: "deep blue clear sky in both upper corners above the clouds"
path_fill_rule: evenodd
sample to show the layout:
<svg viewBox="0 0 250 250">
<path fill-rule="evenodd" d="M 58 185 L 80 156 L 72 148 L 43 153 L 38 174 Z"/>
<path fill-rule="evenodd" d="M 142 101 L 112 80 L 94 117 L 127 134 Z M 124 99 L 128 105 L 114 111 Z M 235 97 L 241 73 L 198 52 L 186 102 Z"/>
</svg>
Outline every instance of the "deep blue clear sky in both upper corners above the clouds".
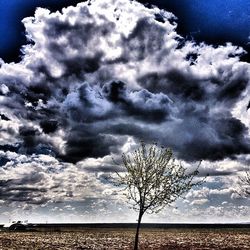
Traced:
<svg viewBox="0 0 250 250">
<path fill-rule="evenodd" d="M 20 46 L 26 43 L 21 20 L 36 7 L 51 10 L 75 5 L 79 0 L 9 0 L 0 2 L 0 57 L 18 60 Z M 149 0 L 179 18 L 178 31 L 198 41 L 223 44 L 231 41 L 249 51 L 250 2 L 245 0 Z M 248 44 L 247 44 L 248 43 Z"/>
</svg>

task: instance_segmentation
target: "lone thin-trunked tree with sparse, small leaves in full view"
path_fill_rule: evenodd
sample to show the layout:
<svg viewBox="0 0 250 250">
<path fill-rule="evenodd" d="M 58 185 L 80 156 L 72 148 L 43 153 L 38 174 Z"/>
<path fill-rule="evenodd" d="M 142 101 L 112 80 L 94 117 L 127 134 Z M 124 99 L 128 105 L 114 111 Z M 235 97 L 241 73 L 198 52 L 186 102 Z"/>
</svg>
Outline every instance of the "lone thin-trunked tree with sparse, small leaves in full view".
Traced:
<svg viewBox="0 0 250 250">
<path fill-rule="evenodd" d="M 141 142 L 133 153 L 123 154 L 122 161 L 126 171 L 117 173 L 117 184 L 125 187 L 129 203 L 139 212 L 134 242 L 134 250 L 138 250 L 144 213 L 159 212 L 204 180 L 193 181 L 200 164 L 195 171 L 187 173 L 186 168 L 175 163 L 171 149 L 156 144 L 146 146 Z"/>
</svg>

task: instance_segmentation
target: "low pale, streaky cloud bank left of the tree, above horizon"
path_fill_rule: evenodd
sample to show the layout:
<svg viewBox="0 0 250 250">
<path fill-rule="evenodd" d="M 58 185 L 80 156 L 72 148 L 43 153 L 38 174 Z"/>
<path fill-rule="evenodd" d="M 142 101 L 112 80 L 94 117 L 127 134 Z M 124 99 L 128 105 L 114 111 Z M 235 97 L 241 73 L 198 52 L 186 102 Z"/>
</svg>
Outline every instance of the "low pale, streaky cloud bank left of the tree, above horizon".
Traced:
<svg viewBox="0 0 250 250">
<path fill-rule="evenodd" d="M 0 200 L 24 205 L 107 199 L 112 187 L 81 165 L 64 164 L 47 155 L 1 153 L 9 161 L 0 169 Z M 109 194 L 108 194 L 109 191 Z"/>
</svg>

